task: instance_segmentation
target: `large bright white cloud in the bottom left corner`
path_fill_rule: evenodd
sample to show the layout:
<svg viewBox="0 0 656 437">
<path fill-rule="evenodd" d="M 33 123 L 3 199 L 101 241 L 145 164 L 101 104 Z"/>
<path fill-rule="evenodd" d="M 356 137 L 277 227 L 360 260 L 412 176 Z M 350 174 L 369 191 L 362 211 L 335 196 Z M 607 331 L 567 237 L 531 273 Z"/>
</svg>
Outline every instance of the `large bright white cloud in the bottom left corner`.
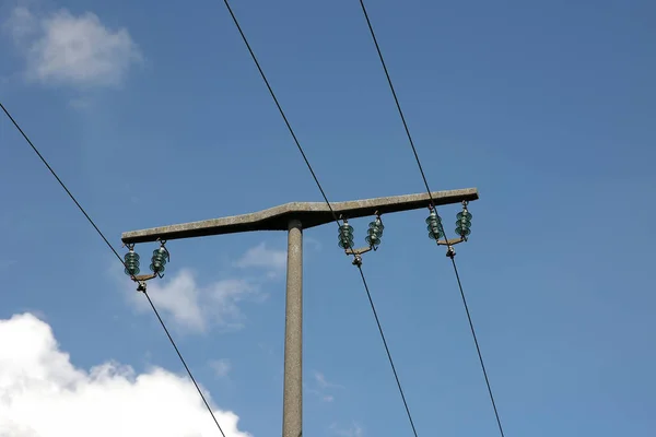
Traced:
<svg viewBox="0 0 656 437">
<path fill-rule="evenodd" d="M 0 349 L 2 437 L 218 435 L 186 378 L 162 368 L 138 375 L 116 363 L 75 368 L 50 327 L 30 314 L 0 320 Z M 233 412 L 213 412 L 227 437 L 250 436 Z"/>
</svg>

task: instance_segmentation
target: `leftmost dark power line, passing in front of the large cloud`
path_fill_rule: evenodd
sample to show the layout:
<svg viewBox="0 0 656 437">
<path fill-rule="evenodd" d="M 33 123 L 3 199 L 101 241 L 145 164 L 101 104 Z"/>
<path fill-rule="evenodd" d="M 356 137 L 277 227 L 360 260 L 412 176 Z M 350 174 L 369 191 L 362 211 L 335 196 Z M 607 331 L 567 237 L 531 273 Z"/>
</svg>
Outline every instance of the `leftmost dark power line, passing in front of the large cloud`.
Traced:
<svg viewBox="0 0 656 437">
<path fill-rule="evenodd" d="M 32 140 L 30 140 L 30 137 L 27 137 L 27 134 L 25 133 L 25 131 L 23 131 L 23 129 L 21 128 L 21 126 L 16 122 L 16 120 L 12 117 L 12 115 L 9 113 L 9 110 L 4 107 L 4 105 L 1 102 L 0 102 L 0 108 L 2 108 L 2 110 L 4 111 L 4 114 L 7 115 L 7 117 L 13 123 L 13 126 L 19 130 L 19 132 L 21 132 L 21 135 L 23 135 L 23 138 L 25 139 L 25 141 L 27 142 L 27 144 L 30 144 L 30 146 L 32 147 L 32 150 L 34 151 L 34 153 L 36 153 L 36 155 L 39 157 L 39 160 L 42 161 L 42 163 L 44 163 L 44 165 L 48 168 L 48 170 L 50 170 L 50 173 L 52 174 L 52 176 L 55 176 L 55 179 L 57 179 L 57 181 L 59 182 L 59 185 L 61 186 L 61 188 L 63 188 L 63 190 L 69 196 L 69 198 L 71 198 L 71 200 L 73 201 L 73 203 L 75 203 L 75 205 L 78 206 L 78 209 L 80 210 L 80 212 L 82 212 L 82 214 L 84 214 L 84 216 L 86 217 L 86 220 L 89 221 L 89 223 L 91 223 L 91 225 L 96 231 L 96 233 L 101 236 L 101 238 L 103 238 L 103 241 L 105 241 L 105 244 L 107 245 L 107 247 L 109 248 L 109 250 L 112 250 L 112 252 L 114 252 L 114 255 L 120 261 L 120 263 L 124 265 L 124 268 L 128 269 L 128 267 L 126 265 L 126 263 L 122 260 L 122 258 L 120 257 L 120 255 L 116 251 L 116 249 L 114 248 L 114 246 L 112 246 L 112 244 L 109 243 L 109 240 L 107 239 L 107 237 L 105 237 L 105 234 L 103 234 L 103 232 L 98 228 L 98 226 L 95 224 L 95 222 L 93 221 L 93 218 L 91 218 L 91 216 L 86 213 L 86 211 L 84 210 L 84 208 L 82 208 L 82 205 L 80 204 L 80 202 L 78 202 L 78 199 L 75 199 L 75 197 L 71 193 L 71 191 L 68 189 L 68 187 L 66 186 L 66 184 L 63 184 L 63 181 L 59 178 L 59 176 L 57 176 L 57 173 L 55 173 L 55 170 L 52 169 L 52 167 L 50 166 L 50 164 L 48 164 L 48 162 L 40 154 L 40 152 L 38 151 L 38 149 L 36 149 L 36 146 L 34 145 L 34 143 L 32 142 Z M 134 279 L 133 275 L 132 275 L 132 279 Z M 164 332 L 166 333 L 166 336 L 168 338 L 168 341 L 173 345 L 173 349 L 175 349 L 175 352 L 176 352 L 178 358 L 180 358 L 180 362 L 183 363 L 183 366 L 185 366 L 185 370 L 187 370 L 187 375 L 189 375 L 189 379 L 191 379 L 191 382 L 194 382 L 194 386 L 196 387 L 196 390 L 198 391 L 198 394 L 200 394 L 200 398 L 202 399 L 204 405 L 207 406 L 208 411 L 212 415 L 212 418 L 214 420 L 214 423 L 216 424 L 216 427 L 221 432 L 221 435 L 223 437 L 225 437 L 225 433 L 223 433 L 223 429 L 221 428 L 221 425 L 219 425 L 219 421 L 216 420 L 216 416 L 214 415 L 214 412 L 212 411 L 212 409 L 210 408 L 210 404 L 206 400 L 204 394 L 202 393 L 202 391 L 200 390 L 200 387 L 198 386 L 198 382 L 196 382 L 196 378 L 194 378 L 194 375 L 191 374 L 191 370 L 189 369 L 189 366 L 187 366 L 187 362 L 185 362 L 185 358 L 183 358 L 183 354 L 180 353 L 179 349 L 175 344 L 175 341 L 173 340 L 173 338 L 168 333 L 168 329 L 166 328 L 166 324 L 164 323 L 164 320 L 162 319 L 162 317 L 160 317 L 160 312 L 157 311 L 157 309 L 155 308 L 155 305 L 151 300 L 150 295 L 147 293 L 145 290 L 143 290 L 143 294 L 145 295 L 145 297 L 147 297 L 147 299 L 148 299 L 151 308 L 153 309 L 155 316 L 157 317 L 157 320 L 160 321 L 160 324 L 162 324 L 162 328 L 164 329 Z"/>
</svg>

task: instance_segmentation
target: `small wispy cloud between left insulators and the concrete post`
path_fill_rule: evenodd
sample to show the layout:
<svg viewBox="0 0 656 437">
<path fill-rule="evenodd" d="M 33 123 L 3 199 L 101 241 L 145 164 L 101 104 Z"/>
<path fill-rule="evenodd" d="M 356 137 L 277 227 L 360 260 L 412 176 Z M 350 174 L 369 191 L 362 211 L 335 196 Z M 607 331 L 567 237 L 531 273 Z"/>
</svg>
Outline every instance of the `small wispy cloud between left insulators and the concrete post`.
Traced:
<svg viewBox="0 0 656 437">
<path fill-rule="evenodd" d="M 148 294 L 157 310 L 173 317 L 176 326 L 196 332 L 210 324 L 236 329 L 242 327 L 243 314 L 237 304 L 258 296 L 255 285 L 245 280 L 229 279 L 199 286 L 191 271 L 183 269 L 173 277 L 150 281 Z M 151 311 L 141 293 L 131 283 L 131 299 L 140 311 Z"/>
</svg>

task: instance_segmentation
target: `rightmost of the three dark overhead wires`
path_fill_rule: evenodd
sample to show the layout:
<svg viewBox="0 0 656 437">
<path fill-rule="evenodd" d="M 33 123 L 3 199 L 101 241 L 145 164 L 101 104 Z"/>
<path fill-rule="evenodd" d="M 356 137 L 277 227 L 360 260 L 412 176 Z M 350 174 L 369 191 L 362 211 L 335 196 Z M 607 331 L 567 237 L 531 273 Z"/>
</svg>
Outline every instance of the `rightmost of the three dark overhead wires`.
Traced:
<svg viewBox="0 0 656 437">
<path fill-rule="evenodd" d="M 373 27 L 372 22 L 370 20 L 368 12 L 367 12 L 366 7 L 364 4 L 364 0 L 359 0 L 359 1 L 360 1 L 360 7 L 362 8 L 362 13 L 363 13 L 364 19 L 366 21 L 370 34 L 372 36 L 372 39 L 374 40 L 374 45 L 376 47 L 376 51 L 378 54 L 378 58 L 379 58 L 380 64 L 383 67 L 383 71 L 385 72 L 385 78 L 387 79 L 387 84 L 389 85 L 389 90 L 391 91 L 391 95 L 394 97 L 394 102 L 396 104 L 397 110 L 398 110 L 399 116 L 401 118 L 401 121 L 403 123 L 403 129 L 406 130 L 406 135 L 408 137 L 408 141 L 410 142 L 410 146 L 412 147 L 412 153 L 414 155 L 414 160 L 417 161 L 417 165 L 419 167 L 419 172 L 421 173 L 421 177 L 423 179 L 424 186 L 426 188 L 426 191 L 429 192 L 429 197 L 431 197 L 431 202 L 433 203 L 433 198 L 432 198 L 432 194 L 431 194 L 431 189 L 429 188 L 429 181 L 426 179 L 426 175 L 425 175 L 425 173 L 423 170 L 423 167 L 421 165 L 421 161 L 419 158 L 419 153 L 417 152 L 417 147 L 414 146 L 414 141 L 412 140 L 412 135 L 410 134 L 410 129 L 408 128 L 408 123 L 406 121 L 406 116 L 403 115 L 403 110 L 401 109 L 401 105 L 399 103 L 399 98 L 398 98 L 396 90 L 394 87 L 394 83 L 391 82 L 391 78 L 389 75 L 389 71 L 387 69 L 387 64 L 385 62 L 385 58 L 383 57 L 383 51 L 380 50 L 380 46 L 378 45 L 378 39 L 376 38 L 376 33 L 374 32 L 374 27 Z M 434 204 L 433 204 L 433 206 L 434 206 Z M 437 209 L 436 208 L 435 208 L 435 213 L 437 213 Z M 440 215 L 437 215 L 437 216 L 440 217 Z M 438 220 L 437 223 L 438 223 L 438 226 L 440 226 L 440 228 L 442 231 L 442 234 L 444 235 L 444 238 L 446 238 L 446 233 L 444 231 L 444 226 L 442 224 L 442 220 Z M 460 297 L 462 298 L 462 305 L 465 306 L 465 311 L 467 314 L 467 320 L 469 321 L 469 328 L 470 328 L 470 331 L 471 331 L 471 336 L 473 338 L 473 343 L 476 345 L 476 351 L 477 351 L 477 354 L 478 354 L 478 357 L 479 357 L 479 362 L 480 362 L 480 365 L 481 365 L 481 369 L 482 369 L 482 373 L 483 373 L 483 376 L 484 376 L 484 379 L 485 379 L 485 386 L 488 388 L 488 393 L 490 394 L 490 401 L 491 401 L 492 408 L 494 410 L 494 416 L 496 418 L 496 424 L 499 426 L 499 432 L 501 434 L 501 437 L 505 437 L 504 432 L 503 432 L 503 426 L 502 426 L 502 423 L 501 423 L 501 417 L 499 415 L 499 410 L 496 409 L 496 402 L 494 400 L 494 394 L 492 392 L 492 386 L 491 386 L 490 379 L 488 377 L 488 370 L 485 369 L 485 364 L 484 364 L 484 361 L 483 361 L 483 355 L 481 353 L 481 349 L 479 346 L 479 342 L 478 342 L 478 338 L 477 338 L 477 334 L 476 334 L 476 330 L 473 328 L 473 322 L 472 322 L 472 319 L 471 319 L 471 315 L 469 312 L 469 306 L 467 305 L 467 298 L 465 296 L 465 291 L 462 290 L 462 283 L 460 282 L 460 275 L 458 274 L 458 268 L 456 265 L 456 260 L 455 260 L 455 257 L 453 257 L 453 256 L 449 257 L 449 258 L 452 260 L 452 264 L 453 264 L 453 268 L 454 268 L 456 280 L 458 282 L 458 288 L 460 291 Z"/>
</svg>

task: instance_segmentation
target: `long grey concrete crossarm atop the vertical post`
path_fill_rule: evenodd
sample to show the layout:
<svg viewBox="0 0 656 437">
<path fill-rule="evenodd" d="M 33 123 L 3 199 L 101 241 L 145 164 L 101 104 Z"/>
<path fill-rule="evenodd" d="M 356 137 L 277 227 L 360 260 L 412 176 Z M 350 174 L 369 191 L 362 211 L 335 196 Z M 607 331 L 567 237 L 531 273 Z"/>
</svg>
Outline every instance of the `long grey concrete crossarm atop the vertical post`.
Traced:
<svg viewBox="0 0 656 437">
<path fill-rule="evenodd" d="M 476 188 L 434 191 L 431 193 L 435 206 L 461 201 L 477 200 Z M 339 216 L 358 218 L 368 215 L 427 208 L 431 203 L 429 193 L 391 196 L 386 198 L 351 200 L 331 203 L 332 211 Z M 300 220 L 303 228 L 324 225 L 335 220 L 330 208 L 325 202 L 291 202 L 268 210 L 249 214 L 211 218 L 200 222 L 184 223 L 171 226 L 124 233 L 124 244 L 148 243 L 157 239 L 171 240 L 179 238 L 204 237 L 210 235 L 235 234 L 253 231 L 288 231 L 291 220 Z"/>
</svg>

